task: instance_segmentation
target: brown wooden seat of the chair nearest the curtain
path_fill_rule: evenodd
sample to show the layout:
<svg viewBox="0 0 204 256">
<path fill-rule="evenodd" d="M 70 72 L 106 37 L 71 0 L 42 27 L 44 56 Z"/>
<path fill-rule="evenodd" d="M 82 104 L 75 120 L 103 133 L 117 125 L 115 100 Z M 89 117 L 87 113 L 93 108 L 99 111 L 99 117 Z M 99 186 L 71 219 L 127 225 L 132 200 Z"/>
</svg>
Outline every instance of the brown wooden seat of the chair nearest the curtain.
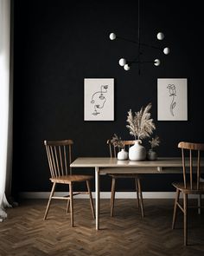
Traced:
<svg viewBox="0 0 204 256">
<path fill-rule="evenodd" d="M 50 178 L 49 180 L 56 183 L 69 184 L 71 182 L 90 181 L 93 176 L 91 175 L 63 175 L 60 177 Z"/>
</svg>

